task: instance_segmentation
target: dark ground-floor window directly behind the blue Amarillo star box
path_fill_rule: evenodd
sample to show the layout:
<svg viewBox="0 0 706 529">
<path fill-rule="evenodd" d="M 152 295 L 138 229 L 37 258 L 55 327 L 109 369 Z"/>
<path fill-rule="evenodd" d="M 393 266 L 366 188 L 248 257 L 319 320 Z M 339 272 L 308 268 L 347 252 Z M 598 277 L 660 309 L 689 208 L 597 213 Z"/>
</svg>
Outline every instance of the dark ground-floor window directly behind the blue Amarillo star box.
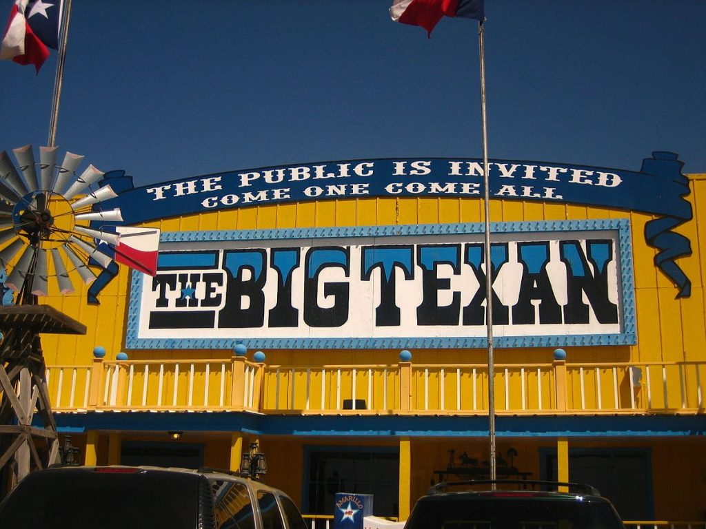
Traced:
<svg viewBox="0 0 706 529">
<path fill-rule="evenodd" d="M 304 509 L 333 514 L 338 492 L 373 494 L 375 516 L 399 512 L 400 454 L 387 447 L 309 446 L 306 448 Z"/>
</svg>

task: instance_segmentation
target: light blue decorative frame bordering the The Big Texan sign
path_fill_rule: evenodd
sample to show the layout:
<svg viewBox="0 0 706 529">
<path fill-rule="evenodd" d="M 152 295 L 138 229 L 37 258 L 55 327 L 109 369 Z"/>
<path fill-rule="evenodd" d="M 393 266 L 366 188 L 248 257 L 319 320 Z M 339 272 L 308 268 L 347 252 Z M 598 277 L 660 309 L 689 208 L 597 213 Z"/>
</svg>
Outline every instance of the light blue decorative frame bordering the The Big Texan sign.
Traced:
<svg viewBox="0 0 706 529">
<path fill-rule="evenodd" d="M 491 233 L 527 231 L 618 231 L 619 277 L 622 288 L 623 332 L 618 334 L 571 334 L 549 336 L 496 336 L 497 348 L 628 346 L 637 343 L 635 320 L 635 281 L 633 276 L 632 239 L 628 219 L 575 221 L 491 222 Z M 403 226 L 352 226 L 304 229 L 263 229 L 230 231 L 179 231 L 162 233 L 160 243 L 197 243 L 208 241 L 267 241 L 306 238 L 360 238 L 384 236 L 453 235 L 484 233 L 483 223 L 414 224 Z M 400 348 L 486 348 L 486 337 L 450 338 L 277 338 L 277 339 L 140 339 L 140 293 L 143 274 L 132 274 L 126 348 L 128 349 L 231 349 L 239 343 L 263 349 L 400 349 Z"/>
</svg>

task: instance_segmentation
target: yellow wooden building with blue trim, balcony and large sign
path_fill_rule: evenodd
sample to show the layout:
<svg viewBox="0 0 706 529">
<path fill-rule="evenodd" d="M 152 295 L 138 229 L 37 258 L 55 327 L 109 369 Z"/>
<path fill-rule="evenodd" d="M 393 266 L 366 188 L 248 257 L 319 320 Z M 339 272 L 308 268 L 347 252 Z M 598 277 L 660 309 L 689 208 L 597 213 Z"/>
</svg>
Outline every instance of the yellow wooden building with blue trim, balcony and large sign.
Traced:
<svg viewBox="0 0 706 529">
<path fill-rule="evenodd" d="M 397 172 L 391 178 L 400 176 L 402 167 L 415 167 L 414 162 L 399 163 L 393 165 Z M 453 163 L 449 162 L 450 174 L 459 172 L 461 162 Z M 370 178 L 365 171 L 372 171 L 372 164 L 360 166 L 352 178 Z M 537 233 L 544 233 L 540 239 L 550 241 L 548 245 L 584 250 L 589 239 L 614 241 L 611 248 L 616 255 L 606 258 L 614 270 L 606 286 L 613 288 L 606 303 L 617 308 L 620 321 L 606 318 L 596 332 L 587 325 L 564 328 L 569 321 L 565 311 L 563 319 L 547 327 L 549 331 L 521 329 L 519 337 L 512 325 L 499 322 L 494 365 L 498 475 L 591 482 L 628 521 L 705 523 L 706 175 L 687 176 L 688 193 L 681 195 L 693 216 L 682 216 L 672 226 L 673 233 L 689 241 L 690 254 L 675 253 L 668 266 L 659 266 L 660 257 L 668 257 L 671 250 L 654 239 L 648 241 L 645 233 L 650 222 L 662 217 L 630 205 L 628 195 L 633 192 L 618 190 L 614 178 L 619 174 L 624 183 L 626 176 L 605 170 L 601 177 L 604 188 L 619 191 L 626 205 L 609 201 L 599 205 L 590 197 L 583 203 L 557 200 L 560 194 L 566 197 L 561 188 L 546 191 L 545 187 L 540 192 L 523 188 L 519 181 L 514 188 L 501 187 L 503 176 L 510 178 L 510 164 L 504 172 L 501 165 L 497 164 L 497 193 L 490 205 L 496 229 L 491 236 L 497 234 L 498 241 L 507 243 L 504 248 L 510 248 L 512 255 L 525 251 L 513 246 L 516 241 L 525 244 L 522 241 L 533 240 Z M 524 183 L 536 179 L 528 176 L 528 166 L 522 165 Z M 140 188 L 159 211 L 152 220 L 133 224 L 160 229 L 160 269 L 178 267 L 176 257 L 172 262 L 164 255 L 186 250 L 202 255 L 222 248 L 265 247 L 270 253 L 263 255 L 270 256 L 273 248 L 342 248 L 344 240 L 352 255 L 360 248 L 372 248 L 378 239 L 384 248 L 414 247 L 409 255 L 424 262 L 423 250 L 414 253 L 417 246 L 438 243 L 456 248 L 458 241 L 477 241 L 484 221 L 483 202 L 474 193 L 477 186 L 467 188 L 467 193 L 441 186 L 433 178 L 436 170 L 426 171 L 429 167 L 417 162 L 424 181 L 407 171 L 407 180 L 400 176 L 400 186 L 388 186 L 386 194 L 364 193 L 361 188 L 356 193 L 352 180 L 345 180 L 347 190 L 309 186 L 301 200 L 273 200 L 277 190 L 285 197 L 281 188 L 273 188 L 273 195 L 267 197 L 237 194 L 256 178 L 269 175 L 268 184 L 287 176 L 297 180 L 297 175 L 305 174 L 301 170 L 282 171 L 279 177 L 276 170 L 239 171 L 236 178 L 241 187 L 230 195 L 224 194 L 223 181 L 215 178 L 183 181 L 171 188 L 151 186 L 149 191 Z M 310 174 L 321 176 L 326 184 L 339 184 L 343 181 L 337 177 L 347 169 L 339 164 L 335 175 L 329 166 L 311 169 Z M 353 169 L 351 165 L 352 173 Z M 573 173 L 576 188 L 580 184 L 589 188 L 589 178 L 594 178 L 594 188 L 600 183 L 596 176 L 600 171 L 591 177 L 589 172 Z M 557 174 L 569 173 L 554 171 Z M 444 192 L 434 194 L 432 183 Z M 649 181 L 635 186 L 646 196 L 659 195 Z M 177 206 L 181 195 L 189 193 L 199 193 L 198 204 L 203 207 L 187 214 Z M 662 200 L 666 199 L 657 197 L 657 202 Z M 168 201 L 172 205 L 165 205 Z M 121 207 L 129 206 L 125 202 Z M 135 207 L 143 206 L 136 203 Z M 587 239 L 586 233 L 597 235 Z M 467 246 L 458 248 L 468 252 L 464 256 L 471 255 Z M 302 250 L 302 260 L 305 255 L 309 254 Z M 589 268 L 594 269 L 597 258 L 588 257 L 584 261 L 593 263 Z M 365 257 L 356 258 L 365 262 Z M 467 269 L 469 259 L 462 263 Z M 515 264 L 521 261 L 514 259 Z M 313 259 L 306 262 L 314 266 Z M 399 286 L 405 267 L 402 261 L 395 262 L 393 275 L 397 274 Z M 352 263 L 349 269 L 356 274 L 355 267 L 362 267 L 361 276 L 373 273 L 370 262 L 367 269 L 358 261 Z M 445 282 L 428 287 L 436 291 L 436 305 L 429 312 L 432 319 L 441 308 L 455 303 L 453 263 L 445 267 L 441 268 Z M 566 267 L 570 267 L 568 261 Z M 328 277 L 333 279 L 328 281 L 340 279 L 344 268 L 330 272 Z M 381 268 L 379 284 L 384 282 L 383 272 Z M 273 275 L 271 269 L 268 273 Z M 682 276 L 690 281 L 688 292 Z M 324 281 L 322 277 L 318 279 Z M 248 278 L 246 274 L 243 280 Z M 313 272 L 307 276 L 307 280 L 316 278 Z M 364 324 L 347 327 L 345 323 L 338 325 L 340 334 L 326 334 L 310 324 L 292 330 L 294 334 L 280 328 L 265 338 L 252 329 L 238 335 L 203 326 L 186 336 L 179 330 L 181 324 L 170 327 L 172 312 L 159 312 L 161 320 L 155 316 L 154 321 L 162 324 L 153 332 L 144 327 L 145 303 L 154 302 L 158 308 L 162 292 L 150 281 L 120 267 L 114 279 L 102 284 L 98 305 L 86 302 L 91 294 L 88 287 L 66 296 L 50 293 L 47 298 L 47 303 L 88 327 L 85 336 L 42 336 L 59 432 L 62 439 L 70 436 L 86 464 L 237 470 L 242 452 L 256 441 L 268 458 L 265 481 L 290 494 L 305 515 L 325 518 L 333 512 L 336 492 L 357 492 L 374 494 L 378 516 L 402 520 L 431 482 L 481 477 L 487 472 L 488 365 L 482 325 L 471 339 L 464 329 L 448 327 L 447 333 L 443 324 L 438 330 L 438 321 L 421 319 L 402 334 L 385 335 L 379 327 L 371 331 Z M 389 286 L 389 274 L 387 281 Z M 556 291 L 556 281 L 551 284 Z M 572 302 L 569 293 L 558 306 L 592 305 L 581 285 L 585 284 L 579 284 L 574 294 L 578 298 Z M 529 294 L 534 300 L 527 302 L 532 306 L 527 310 L 539 314 L 545 301 L 539 291 L 549 287 L 535 278 L 527 288 L 537 296 Z M 503 312 L 505 300 L 512 296 L 500 290 L 498 306 Z M 327 295 L 314 296 L 324 300 L 321 307 Z M 156 301 L 150 296 L 157 296 Z M 199 297 L 192 293 L 183 298 L 184 303 L 189 305 L 194 296 Z M 208 298 L 208 292 L 204 296 Z M 299 299 L 296 293 L 293 296 Z M 396 299 L 400 296 L 398 291 Z M 416 307 L 426 303 L 411 296 Z M 168 297 L 164 294 L 164 300 Z M 266 296 L 265 303 L 268 308 L 275 306 Z M 380 293 L 361 294 L 351 303 L 347 322 L 367 322 L 368 313 L 382 303 Z M 469 305 L 470 298 L 463 294 L 460 303 Z M 510 307 L 508 317 L 518 322 L 520 312 L 514 311 Z M 194 310 L 179 317 L 196 322 L 203 312 Z M 592 320 L 601 319 L 597 312 L 591 308 Z M 416 312 L 419 318 L 421 314 Z M 402 310 L 403 324 L 406 315 Z M 329 316 L 334 317 L 333 312 L 327 312 Z"/>
</svg>

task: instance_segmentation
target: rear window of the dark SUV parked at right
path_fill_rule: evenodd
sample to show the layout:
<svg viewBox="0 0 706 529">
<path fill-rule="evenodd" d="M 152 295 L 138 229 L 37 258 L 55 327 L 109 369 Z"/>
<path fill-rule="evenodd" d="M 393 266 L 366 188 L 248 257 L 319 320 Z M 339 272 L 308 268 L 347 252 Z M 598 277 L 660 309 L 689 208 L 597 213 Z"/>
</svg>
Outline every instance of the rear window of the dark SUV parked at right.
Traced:
<svg viewBox="0 0 706 529">
<path fill-rule="evenodd" d="M 407 521 L 414 529 L 623 529 L 604 502 L 556 499 L 423 499 Z"/>
</svg>

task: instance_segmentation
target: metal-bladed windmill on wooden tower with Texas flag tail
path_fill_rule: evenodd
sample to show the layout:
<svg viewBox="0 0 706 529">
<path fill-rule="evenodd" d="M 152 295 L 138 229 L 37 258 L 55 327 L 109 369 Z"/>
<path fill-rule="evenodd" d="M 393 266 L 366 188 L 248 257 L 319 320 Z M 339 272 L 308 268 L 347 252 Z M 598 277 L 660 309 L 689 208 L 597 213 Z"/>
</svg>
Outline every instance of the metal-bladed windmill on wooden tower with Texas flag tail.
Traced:
<svg viewBox="0 0 706 529">
<path fill-rule="evenodd" d="M 0 269 L 16 304 L 0 307 L 0 469 L 13 487 L 32 468 L 55 463 L 59 453 L 56 422 L 47 393 L 39 334 L 85 334 L 85 325 L 40 305 L 50 289 L 65 295 L 73 281 L 90 284 L 91 267 L 115 260 L 154 275 L 159 231 L 115 226 L 119 208 L 103 209 L 116 197 L 100 187 L 103 172 L 90 165 L 78 173 L 83 156 L 58 147 L 13 149 L 16 163 L 0 152 Z M 130 237 L 129 244 L 121 237 Z M 73 279 L 72 279 L 73 276 Z M 32 426 L 35 411 L 44 427 Z M 35 421 L 37 422 L 37 421 Z"/>
</svg>

